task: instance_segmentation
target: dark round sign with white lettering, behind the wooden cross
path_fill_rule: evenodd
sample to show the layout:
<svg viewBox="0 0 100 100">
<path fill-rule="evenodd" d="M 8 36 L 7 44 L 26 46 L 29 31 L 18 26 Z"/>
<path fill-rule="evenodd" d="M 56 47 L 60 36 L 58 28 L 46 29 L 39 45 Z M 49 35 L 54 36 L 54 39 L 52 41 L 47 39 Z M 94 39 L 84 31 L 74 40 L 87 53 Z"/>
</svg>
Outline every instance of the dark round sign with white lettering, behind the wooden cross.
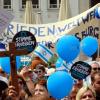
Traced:
<svg viewBox="0 0 100 100">
<path fill-rule="evenodd" d="M 16 43 L 17 49 L 26 49 L 28 53 L 31 53 L 36 47 L 36 38 L 29 31 L 18 32 L 12 41 Z"/>
</svg>

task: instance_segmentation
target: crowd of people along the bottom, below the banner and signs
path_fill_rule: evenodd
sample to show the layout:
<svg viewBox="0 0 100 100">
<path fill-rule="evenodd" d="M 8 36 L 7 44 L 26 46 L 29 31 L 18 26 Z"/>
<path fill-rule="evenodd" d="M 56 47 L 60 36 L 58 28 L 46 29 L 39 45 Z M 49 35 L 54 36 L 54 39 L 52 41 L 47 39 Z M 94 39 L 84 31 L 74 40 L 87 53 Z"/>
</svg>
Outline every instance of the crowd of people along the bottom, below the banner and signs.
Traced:
<svg viewBox="0 0 100 100">
<path fill-rule="evenodd" d="M 83 80 L 75 79 L 70 95 L 61 100 L 100 100 L 100 64 L 92 61 L 90 65 L 91 83 L 84 84 Z M 47 65 L 36 58 L 33 59 L 31 66 L 24 66 L 19 70 L 17 75 L 19 93 L 12 86 L 10 75 L 0 69 L 0 100 L 56 100 L 47 89 L 49 75 L 46 68 Z M 54 66 L 53 68 L 55 69 Z"/>
</svg>

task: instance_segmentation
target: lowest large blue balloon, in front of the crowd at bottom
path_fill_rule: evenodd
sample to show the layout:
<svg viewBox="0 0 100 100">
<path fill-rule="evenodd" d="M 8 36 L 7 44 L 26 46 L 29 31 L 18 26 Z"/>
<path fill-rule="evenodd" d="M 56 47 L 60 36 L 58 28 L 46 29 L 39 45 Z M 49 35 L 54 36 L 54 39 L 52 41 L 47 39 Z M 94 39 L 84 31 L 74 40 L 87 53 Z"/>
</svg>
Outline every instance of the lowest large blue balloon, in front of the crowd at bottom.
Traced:
<svg viewBox="0 0 100 100">
<path fill-rule="evenodd" d="M 49 76 L 47 89 L 50 95 L 56 99 L 68 96 L 73 87 L 72 77 L 65 71 L 57 71 Z"/>
</svg>

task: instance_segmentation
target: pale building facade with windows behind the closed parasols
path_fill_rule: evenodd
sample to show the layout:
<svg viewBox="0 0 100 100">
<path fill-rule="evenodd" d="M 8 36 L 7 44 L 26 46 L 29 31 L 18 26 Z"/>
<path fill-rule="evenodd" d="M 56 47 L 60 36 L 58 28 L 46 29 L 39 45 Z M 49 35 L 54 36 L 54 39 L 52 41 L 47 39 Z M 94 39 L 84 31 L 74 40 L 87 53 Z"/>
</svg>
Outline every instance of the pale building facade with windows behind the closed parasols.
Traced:
<svg viewBox="0 0 100 100">
<path fill-rule="evenodd" d="M 67 1 L 67 0 L 66 0 Z M 89 9 L 89 0 L 68 0 L 70 18 Z M 61 0 L 32 0 L 33 13 L 41 13 L 43 23 L 58 21 Z M 11 12 L 13 21 L 24 22 L 26 0 L 0 0 L 0 7 Z"/>
</svg>

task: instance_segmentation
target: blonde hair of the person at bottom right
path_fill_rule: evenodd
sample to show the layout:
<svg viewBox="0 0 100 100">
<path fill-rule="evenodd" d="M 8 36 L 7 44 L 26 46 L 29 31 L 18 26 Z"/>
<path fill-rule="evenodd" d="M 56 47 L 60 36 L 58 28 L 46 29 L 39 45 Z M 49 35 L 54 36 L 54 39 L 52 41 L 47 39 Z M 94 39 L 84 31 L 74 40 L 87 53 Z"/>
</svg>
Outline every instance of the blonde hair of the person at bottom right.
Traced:
<svg viewBox="0 0 100 100">
<path fill-rule="evenodd" d="M 76 100 L 80 100 L 82 95 L 88 90 L 90 90 L 93 93 L 94 97 L 96 97 L 94 88 L 92 86 L 85 85 L 78 91 L 78 93 L 76 95 Z"/>
</svg>

